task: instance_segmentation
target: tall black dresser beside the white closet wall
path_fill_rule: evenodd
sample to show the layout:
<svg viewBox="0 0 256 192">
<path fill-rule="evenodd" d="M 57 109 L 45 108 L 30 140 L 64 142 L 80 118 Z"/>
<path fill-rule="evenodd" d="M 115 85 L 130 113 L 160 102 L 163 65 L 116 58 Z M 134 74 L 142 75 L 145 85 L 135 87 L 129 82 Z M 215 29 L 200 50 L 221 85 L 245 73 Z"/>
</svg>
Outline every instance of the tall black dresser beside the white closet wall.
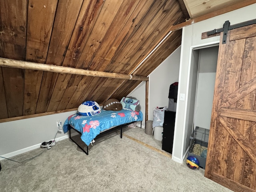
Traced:
<svg viewBox="0 0 256 192">
<path fill-rule="evenodd" d="M 163 124 L 163 140 L 162 150 L 172 154 L 172 145 L 174 138 L 174 125 L 175 125 L 175 111 L 164 111 L 164 124 Z"/>
</svg>

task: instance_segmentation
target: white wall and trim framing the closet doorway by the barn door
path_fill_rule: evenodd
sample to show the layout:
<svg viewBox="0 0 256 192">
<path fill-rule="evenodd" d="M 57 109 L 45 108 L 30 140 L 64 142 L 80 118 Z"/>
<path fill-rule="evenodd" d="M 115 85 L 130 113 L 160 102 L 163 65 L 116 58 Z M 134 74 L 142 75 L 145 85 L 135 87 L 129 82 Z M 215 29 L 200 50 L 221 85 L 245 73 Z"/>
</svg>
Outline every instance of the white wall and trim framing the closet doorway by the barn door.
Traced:
<svg viewBox="0 0 256 192">
<path fill-rule="evenodd" d="M 174 149 L 172 152 L 172 158 L 182 163 L 186 149 L 188 148 L 186 144 L 185 132 L 188 130 L 187 118 L 188 114 L 188 101 L 190 100 L 188 96 L 188 73 L 190 71 L 190 61 L 191 53 L 193 48 L 199 48 L 204 46 L 211 46 L 216 44 L 220 40 L 220 36 L 215 36 L 211 38 L 201 39 L 202 33 L 216 28 L 222 28 L 226 20 L 230 21 L 230 24 L 237 24 L 240 22 L 245 22 L 256 18 L 256 4 L 228 12 L 210 18 L 201 22 L 194 23 L 190 26 L 186 26 L 182 30 L 182 45 L 181 45 L 181 58 L 180 58 L 180 75 L 179 75 L 179 87 L 178 94 L 186 94 L 185 101 L 177 102 L 176 110 L 176 122 L 174 131 Z M 190 134 L 187 132 L 187 134 Z"/>
</svg>

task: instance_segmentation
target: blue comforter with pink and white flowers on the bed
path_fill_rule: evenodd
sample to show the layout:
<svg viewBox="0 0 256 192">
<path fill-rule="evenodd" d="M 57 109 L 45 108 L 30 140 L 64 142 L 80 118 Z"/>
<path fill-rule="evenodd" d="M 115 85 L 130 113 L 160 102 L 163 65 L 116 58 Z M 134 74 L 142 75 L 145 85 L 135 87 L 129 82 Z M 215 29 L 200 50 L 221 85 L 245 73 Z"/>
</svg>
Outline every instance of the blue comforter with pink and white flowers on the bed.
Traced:
<svg viewBox="0 0 256 192">
<path fill-rule="evenodd" d="M 100 132 L 122 124 L 142 121 L 142 112 L 131 110 L 109 111 L 102 110 L 94 116 L 82 116 L 74 114 L 69 116 L 63 124 L 64 133 L 68 132 L 70 126 L 82 133 L 81 139 L 87 146 Z"/>
</svg>

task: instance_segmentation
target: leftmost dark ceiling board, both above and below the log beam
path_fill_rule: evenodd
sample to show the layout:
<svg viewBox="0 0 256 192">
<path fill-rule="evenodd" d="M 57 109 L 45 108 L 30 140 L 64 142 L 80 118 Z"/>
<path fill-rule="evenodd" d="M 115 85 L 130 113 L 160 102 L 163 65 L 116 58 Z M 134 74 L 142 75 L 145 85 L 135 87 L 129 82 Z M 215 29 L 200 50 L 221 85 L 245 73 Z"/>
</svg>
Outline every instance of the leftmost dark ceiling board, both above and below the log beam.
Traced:
<svg viewBox="0 0 256 192">
<path fill-rule="evenodd" d="M 0 56 L 23 60 L 26 54 L 26 7 L 27 1 L 0 1 Z M 24 93 L 24 70 L 2 68 L 4 90 L 1 98 L 3 112 L 0 116 L 22 116 Z"/>
</svg>

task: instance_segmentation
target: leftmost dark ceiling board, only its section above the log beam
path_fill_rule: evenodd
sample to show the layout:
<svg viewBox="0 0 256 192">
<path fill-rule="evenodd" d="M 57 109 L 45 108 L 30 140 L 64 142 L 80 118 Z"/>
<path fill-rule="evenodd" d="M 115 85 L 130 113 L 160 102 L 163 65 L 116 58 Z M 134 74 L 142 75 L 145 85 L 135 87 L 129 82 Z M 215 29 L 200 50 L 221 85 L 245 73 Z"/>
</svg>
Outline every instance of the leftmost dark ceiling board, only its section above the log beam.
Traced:
<svg viewBox="0 0 256 192">
<path fill-rule="evenodd" d="M 1 0 L 0 57 L 24 60 L 26 55 L 27 1 Z"/>
</svg>

